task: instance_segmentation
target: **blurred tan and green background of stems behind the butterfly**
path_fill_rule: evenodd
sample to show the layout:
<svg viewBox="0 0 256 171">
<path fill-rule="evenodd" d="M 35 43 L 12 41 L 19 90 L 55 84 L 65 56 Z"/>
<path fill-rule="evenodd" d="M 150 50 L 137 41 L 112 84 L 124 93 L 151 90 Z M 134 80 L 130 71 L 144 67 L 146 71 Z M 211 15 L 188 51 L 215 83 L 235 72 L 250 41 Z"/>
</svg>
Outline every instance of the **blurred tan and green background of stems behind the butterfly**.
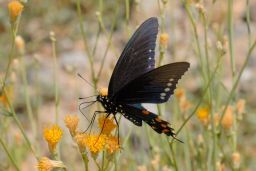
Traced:
<svg viewBox="0 0 256 171">
<path fill-rule="evenodd" d="M 185 143 L 169 143 L 171 138 L 122 118 L 121 151 L 110 158 L 104 152 L 89 157 L 89 168 L 256 170 L 255 0 L 24 0 L 16 23 L 10 22 L 10 2 L 0 0 L 0 78 L 7 78 L 9 101 L 37 156 L 50 158 L 43 130 L 57 123 L 64 131 L 58 160 L 67 170 L 84 170 L 64 118 L 77 114 L 78 130 L 84 131 L 89 123 L 78 110 L 78 98 L 97 92 L 77 73 L 97 89 L 107 87 L 130 36 L 155 16 L 160 25 L 156 64 L 187 61 L 191 67 L 170 101 L 146 106 L 161 113 L 175 130 L 191 116 L 178 135 Z M 20 170 L 37 170 L 37 160 L 1 91 L 0 170 L 15 170 L 4 147 Z M 91 118 L 97 108 L 99 104 L 83 113 Z M 97 166 L 104 159 L 109 164 Z"/>
</svg>

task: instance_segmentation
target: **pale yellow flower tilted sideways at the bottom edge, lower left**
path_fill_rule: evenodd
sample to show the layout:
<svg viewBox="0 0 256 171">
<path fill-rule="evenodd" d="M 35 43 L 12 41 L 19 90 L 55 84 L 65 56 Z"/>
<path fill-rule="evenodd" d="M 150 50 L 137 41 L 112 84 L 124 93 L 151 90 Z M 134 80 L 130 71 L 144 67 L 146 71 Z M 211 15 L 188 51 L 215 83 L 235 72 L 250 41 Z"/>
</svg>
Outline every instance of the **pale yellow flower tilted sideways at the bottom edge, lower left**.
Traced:
<svg viewBox="0 0 256 171">
<path fill-rule="evenodd" d="M 40 171 L 50 171 L 54 168 L 66 168 L 62 161 L 50 160 L 47 157 L 42 157 L 36 166 Z"/>
</svg>

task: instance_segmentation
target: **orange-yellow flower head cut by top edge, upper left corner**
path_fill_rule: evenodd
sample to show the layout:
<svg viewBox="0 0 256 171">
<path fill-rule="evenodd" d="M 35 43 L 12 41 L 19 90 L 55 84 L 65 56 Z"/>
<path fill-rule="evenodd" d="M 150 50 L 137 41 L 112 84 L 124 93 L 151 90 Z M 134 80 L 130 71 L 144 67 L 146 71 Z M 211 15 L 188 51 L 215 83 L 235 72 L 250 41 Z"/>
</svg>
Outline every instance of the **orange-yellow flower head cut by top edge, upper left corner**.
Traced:
<svg viewBox="0 0 256 171">
<path fill-rule="evenodd" d="M 21 14 L 24 6 L 19 1 L 11 1 L 8 4 L 8 9 L 11 17 L 11 21 L 16 21 L 17 17 Z"/>
</svg>

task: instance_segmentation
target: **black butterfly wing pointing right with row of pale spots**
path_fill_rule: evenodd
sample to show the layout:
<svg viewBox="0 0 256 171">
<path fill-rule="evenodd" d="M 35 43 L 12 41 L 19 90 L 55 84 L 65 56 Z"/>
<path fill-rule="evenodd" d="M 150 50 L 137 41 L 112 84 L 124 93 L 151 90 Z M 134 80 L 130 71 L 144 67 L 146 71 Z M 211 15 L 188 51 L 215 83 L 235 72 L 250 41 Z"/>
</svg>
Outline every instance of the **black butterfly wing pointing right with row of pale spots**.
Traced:
<svg viewBox="0 0 256 171">
<path fill-rule="evenodd" d="M 176 84 L 188 70 L 189 63 L 171 63 L 151 70 L 123 87 L 113 101 L 125 104 L 164 103 L 174 93 Z"/>
</svg>

